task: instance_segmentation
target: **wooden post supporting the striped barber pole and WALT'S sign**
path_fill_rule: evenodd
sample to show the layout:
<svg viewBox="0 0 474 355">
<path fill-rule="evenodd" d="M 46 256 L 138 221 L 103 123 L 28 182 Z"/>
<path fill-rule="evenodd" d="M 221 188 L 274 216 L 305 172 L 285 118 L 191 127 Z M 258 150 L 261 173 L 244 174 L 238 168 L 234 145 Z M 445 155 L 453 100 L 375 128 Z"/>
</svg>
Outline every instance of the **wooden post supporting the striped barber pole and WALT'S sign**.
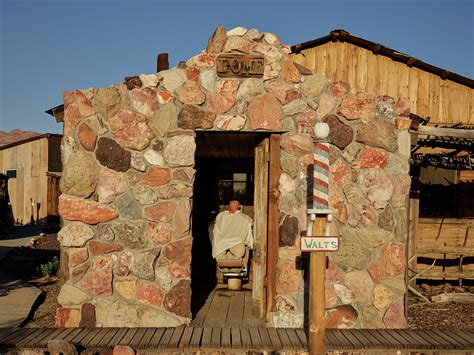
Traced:
<svg viewBox="0 0 474 355">
<path fill-rule="evenodd" d="M 313 235 L 325 235 L 327 215 L 316 215 Z M 324 309 L 326 253 L 310 253 L 309 259 L 309 353 L 324 354 L 326 319 Z"/>
</svg>

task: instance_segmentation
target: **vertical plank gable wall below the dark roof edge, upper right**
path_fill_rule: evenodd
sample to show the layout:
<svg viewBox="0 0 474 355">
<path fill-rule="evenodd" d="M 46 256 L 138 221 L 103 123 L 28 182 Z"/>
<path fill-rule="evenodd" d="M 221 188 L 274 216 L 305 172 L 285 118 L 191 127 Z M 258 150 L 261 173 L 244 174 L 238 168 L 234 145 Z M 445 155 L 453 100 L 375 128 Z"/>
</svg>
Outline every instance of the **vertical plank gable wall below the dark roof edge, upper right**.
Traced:
<svg viewBox="0 0 474 355">
<path fill-rule="evenodd" d="M 352 88 L 409 97 L 411 112 L 432 123 L 474 124 L 474 90 L 346 42 L 329 42 L 291 54 L 291 59 Z"/>
</svg>

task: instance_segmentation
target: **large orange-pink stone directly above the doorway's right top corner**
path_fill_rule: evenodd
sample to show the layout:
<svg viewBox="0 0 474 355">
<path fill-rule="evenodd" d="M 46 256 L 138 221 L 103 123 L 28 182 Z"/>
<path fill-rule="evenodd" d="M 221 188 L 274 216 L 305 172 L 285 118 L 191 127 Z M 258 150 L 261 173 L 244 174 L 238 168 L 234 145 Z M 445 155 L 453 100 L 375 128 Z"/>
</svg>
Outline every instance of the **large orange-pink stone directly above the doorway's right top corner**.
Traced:
<svg viewBox="0 0 474 355">
<path fill-rule="evenodd" d="M 247 115 L 251 129 L 280 130 L 285 117 L 280 102 L 271 94 L 257 96 L 252 100 Z"/>
</svg>

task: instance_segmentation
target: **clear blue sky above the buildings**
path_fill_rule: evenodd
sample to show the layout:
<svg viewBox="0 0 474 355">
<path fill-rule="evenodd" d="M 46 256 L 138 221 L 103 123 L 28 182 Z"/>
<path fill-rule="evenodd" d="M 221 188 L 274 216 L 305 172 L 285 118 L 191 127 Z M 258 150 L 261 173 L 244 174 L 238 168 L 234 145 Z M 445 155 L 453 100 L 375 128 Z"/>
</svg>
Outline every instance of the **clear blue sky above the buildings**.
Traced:
<svg viewBox="0 0 474 355">
<path fill-rule="evenodd" d="M 474 77 L 473 0 L 0 0 L 0 130 L 61 133 L 66 90 L 109 86 L 206 47 L 215 27 L 297 44 L 343 28 Z"/>
</svg>

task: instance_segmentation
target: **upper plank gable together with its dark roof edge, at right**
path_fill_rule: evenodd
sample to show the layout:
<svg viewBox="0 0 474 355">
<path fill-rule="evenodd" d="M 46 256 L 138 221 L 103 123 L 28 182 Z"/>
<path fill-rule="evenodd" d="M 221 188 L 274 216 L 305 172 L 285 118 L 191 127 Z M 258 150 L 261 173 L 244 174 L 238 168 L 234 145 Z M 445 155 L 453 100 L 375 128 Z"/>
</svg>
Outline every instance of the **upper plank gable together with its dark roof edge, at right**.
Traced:
<svg viewBox="0 0 474 355">
<path fill-rule="evenodd" d="M 474 81 L 344 30 L 291 47 L 290 58 L 375 95 L 408 97 L 433 124 L 474 125 Z"/>
</svg>

